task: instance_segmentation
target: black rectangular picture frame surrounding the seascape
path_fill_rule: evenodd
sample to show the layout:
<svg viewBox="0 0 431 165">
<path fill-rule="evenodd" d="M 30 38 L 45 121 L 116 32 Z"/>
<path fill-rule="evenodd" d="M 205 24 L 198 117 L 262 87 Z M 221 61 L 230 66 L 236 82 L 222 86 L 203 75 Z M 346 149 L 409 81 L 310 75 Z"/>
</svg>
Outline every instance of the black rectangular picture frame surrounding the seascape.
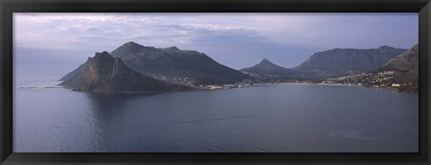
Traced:
<svg viewBox="0 0 431 165">
<path fill-rule="evenodd" d="M 418 153 L 13 153 L 13 13 L 418 13 Z M 429 0 L 1 0 L 0 162 L 2 164 L 430 163 Z"/>
</svg>

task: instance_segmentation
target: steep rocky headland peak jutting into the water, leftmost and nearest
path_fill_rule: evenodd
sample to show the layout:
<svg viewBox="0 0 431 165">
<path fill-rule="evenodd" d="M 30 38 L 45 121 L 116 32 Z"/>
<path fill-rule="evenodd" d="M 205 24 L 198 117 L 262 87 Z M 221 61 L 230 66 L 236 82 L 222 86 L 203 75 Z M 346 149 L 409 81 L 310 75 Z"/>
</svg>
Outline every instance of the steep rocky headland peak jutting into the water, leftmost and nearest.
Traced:
<svg viewBox="0 0 431 165">
<path fill-rule="evenodd" d="M 63 81 L 60 85 L 66 88 L 95 93 L 172 91 L 182 88 L 139 74 L 108 52 L 88 57 L 83 65 L 66 74 L 60 81 Z"/>
</svg>

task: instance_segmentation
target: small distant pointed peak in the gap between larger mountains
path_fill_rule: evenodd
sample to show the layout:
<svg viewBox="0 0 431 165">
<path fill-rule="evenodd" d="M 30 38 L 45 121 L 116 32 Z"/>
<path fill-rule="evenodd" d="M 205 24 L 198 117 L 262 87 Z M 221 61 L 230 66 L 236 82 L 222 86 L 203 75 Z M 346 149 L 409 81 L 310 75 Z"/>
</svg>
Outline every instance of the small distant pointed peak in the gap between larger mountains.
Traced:
<svg viewBox="0 0 431 165">
<path fill-rule="evenodd" d="M 283 78 L 292 78 L 297 75 L 294 70 L 275 65 L 266 58 L 260 61 L 259 64 L 243 68 L 240 71 L 251 74 L 259 74 L 261 76 L 275 76 Z"/>
</svg>

